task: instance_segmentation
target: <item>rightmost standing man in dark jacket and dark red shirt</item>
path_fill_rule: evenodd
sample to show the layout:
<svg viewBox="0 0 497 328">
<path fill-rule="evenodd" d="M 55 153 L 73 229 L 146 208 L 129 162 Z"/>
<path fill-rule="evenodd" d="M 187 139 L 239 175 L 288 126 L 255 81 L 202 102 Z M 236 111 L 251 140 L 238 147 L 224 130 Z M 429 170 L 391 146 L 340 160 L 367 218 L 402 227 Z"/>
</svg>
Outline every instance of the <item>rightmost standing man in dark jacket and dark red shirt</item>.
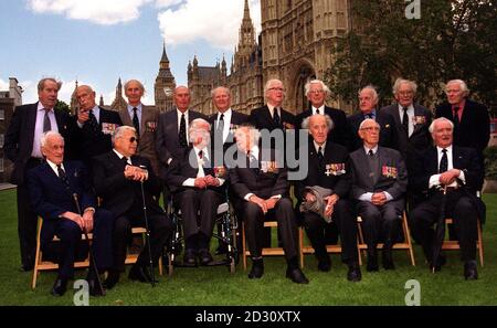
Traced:
<svg viewBox="0 0 497 328">
<path fill-rule="evenodd" d="M 490 138 L 490 117 L 488 108 L 468 98 L 469 89 L 462 80 L 448 81 L 445 86 L 447 103 L 435 109 L 435 117 L 445 117 L 454 124 L 454 145 L 476 150 L 479 163 L 485 169 L 484 149 Z M 477 186 L 480 190 L 483 187 Z"/>
</svg>

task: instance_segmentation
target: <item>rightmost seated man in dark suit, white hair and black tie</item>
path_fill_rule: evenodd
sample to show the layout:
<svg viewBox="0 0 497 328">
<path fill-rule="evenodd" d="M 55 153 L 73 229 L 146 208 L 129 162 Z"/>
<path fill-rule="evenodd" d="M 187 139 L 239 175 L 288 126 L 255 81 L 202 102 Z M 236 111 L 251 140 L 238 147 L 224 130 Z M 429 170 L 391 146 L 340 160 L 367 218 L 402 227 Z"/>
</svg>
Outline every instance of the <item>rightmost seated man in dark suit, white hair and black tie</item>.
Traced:
<svg viewBox="0 0 497 328">
<path fill-rule="evenodd" d="M 411 212 L 414 229 L 421 237 L 424 255 L 430 268 L 440 271 L 444 256 L 433 260 L 433 224 L 442 211 L 445 197 L 445 216 L 454 219 L 455 230 L 464 262 L 464 277 L 477 279 L 476 269 L 476 220 L 485 221 L 485 204 L 476 192 L 484 180 L 476 150 L 453 144 L 454 124 L 445 117 L 436 118 L 430 126 L 434 147 L 429 148 L 416 161 L 411 183 L 420 192 L 427 192 L 429 199 Z M 446 195 L 443 189 L 446 188 Z"/>
</svg>

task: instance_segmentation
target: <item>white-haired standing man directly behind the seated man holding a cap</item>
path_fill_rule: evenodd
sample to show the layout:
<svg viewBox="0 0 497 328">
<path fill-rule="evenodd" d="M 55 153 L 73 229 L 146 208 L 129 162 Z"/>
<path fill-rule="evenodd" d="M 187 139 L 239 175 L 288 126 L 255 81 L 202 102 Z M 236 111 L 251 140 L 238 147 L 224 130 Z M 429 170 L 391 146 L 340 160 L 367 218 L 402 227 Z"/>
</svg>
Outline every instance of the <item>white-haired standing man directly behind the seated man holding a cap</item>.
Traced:
<svg viewBox="0 0 497 328">
<path fill-rule="evenodd" d="M 296 127 L 300 128 L 302 123 L 306 117 L 315 114 L 326 114 L 334 123 L 334 128 L 329 129 L 327 140 L 350 149 L 352 147 L 353 136 L 345 112 L 328 107 L 325 104 L 326 98 L 330 94 L 329 87 L 320 80 L 313 80 L 306 83 L 305 91 L 307 99 L 310 102 L 310 108 L 297 115 L 295 119 Z"/>
</svg>

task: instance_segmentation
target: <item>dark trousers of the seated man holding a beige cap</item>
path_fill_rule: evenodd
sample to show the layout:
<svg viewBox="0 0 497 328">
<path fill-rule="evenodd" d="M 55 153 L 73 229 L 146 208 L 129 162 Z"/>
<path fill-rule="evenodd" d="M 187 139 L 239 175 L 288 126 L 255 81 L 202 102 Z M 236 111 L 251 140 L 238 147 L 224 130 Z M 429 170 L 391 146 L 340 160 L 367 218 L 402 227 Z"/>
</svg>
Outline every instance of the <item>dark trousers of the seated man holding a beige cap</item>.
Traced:
<svg viewBox="0 0 497 328">
<path fill-rule="evenodd" d="M 357 253 L 357 220 L 349 201 L 340 199 L 335 204 L 332 223 L 336 224 L 341 241 L 341 260 L 343 263 L 358 262 Z M 326 255 L 326 229 L 330 225 L 316 213 L 304 213 L 304 226 L 316 256 Z"/>
</svg>

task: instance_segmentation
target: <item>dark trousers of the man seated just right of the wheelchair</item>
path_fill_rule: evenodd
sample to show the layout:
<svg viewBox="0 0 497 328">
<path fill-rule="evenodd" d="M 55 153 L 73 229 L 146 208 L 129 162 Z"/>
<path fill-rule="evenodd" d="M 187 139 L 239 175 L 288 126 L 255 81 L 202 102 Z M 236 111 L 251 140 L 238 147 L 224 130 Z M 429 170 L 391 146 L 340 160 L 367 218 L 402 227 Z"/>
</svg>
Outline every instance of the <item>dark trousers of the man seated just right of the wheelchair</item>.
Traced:
<svg viewBox="0 0 497 328">
<path fill-rule="evenodd" d="M 295 220 L 292 201 L 287 198 L 282 198 L 276 203 L 275 208 L 265 215 L 262 209 L 253 203 L 245 202 L 244 205 L 244 221 L 245 221 L 245 237 L 248 243 L 251 257 L 262 256 L 262 248 L 264 246 L 264 220 L 267 214 L 275 216 L 278 222 L 278 230 L 282 236 L 283 250 L 287 261 L 295 258 L 298 254 L 298 229 Z"/>
</svg>

